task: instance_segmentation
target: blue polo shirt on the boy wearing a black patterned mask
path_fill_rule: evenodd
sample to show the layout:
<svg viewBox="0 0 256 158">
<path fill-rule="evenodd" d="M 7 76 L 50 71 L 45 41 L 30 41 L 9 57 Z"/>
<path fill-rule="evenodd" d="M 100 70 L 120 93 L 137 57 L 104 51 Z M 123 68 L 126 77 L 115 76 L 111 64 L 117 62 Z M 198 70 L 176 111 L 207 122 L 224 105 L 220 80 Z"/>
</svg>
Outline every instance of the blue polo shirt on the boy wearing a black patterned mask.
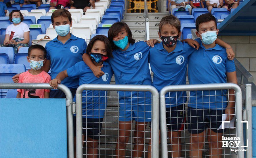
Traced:
<svg viewBox="0 0 256 158">
<path fill-rule="evenodd" d="M 158 92 L 165 86 L 186 84 L 188 56 L 195 49 L 185 42 L 177 41 L 175 49 L 168 53 L 163 42 L 150 49 L 150 67 L 154 72 L 152 86 Z M 166 107 L 175 107 L 186 103 L 186 92 L 168 92 L 165 97 Z"/>
</svg>

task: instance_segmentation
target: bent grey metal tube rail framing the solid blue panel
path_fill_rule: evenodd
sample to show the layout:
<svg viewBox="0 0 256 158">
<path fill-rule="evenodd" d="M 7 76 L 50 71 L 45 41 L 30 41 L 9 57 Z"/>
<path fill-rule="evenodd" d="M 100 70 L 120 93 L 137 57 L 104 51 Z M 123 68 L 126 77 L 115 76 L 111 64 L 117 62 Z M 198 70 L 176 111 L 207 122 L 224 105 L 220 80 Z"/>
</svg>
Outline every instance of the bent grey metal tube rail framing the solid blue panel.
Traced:
<svg viewBox="0 0 256 158">
<path fill-rule="evenodd" d="M 53 89 L 48 83 L 0 83 L 0 89 Z M 68 157 L 74 157 L 72 93 L 64 84 L 58 84 L 58 89 L 66 95 L 67 108 L 67 133 L 68 133 Z"/>
</svg>

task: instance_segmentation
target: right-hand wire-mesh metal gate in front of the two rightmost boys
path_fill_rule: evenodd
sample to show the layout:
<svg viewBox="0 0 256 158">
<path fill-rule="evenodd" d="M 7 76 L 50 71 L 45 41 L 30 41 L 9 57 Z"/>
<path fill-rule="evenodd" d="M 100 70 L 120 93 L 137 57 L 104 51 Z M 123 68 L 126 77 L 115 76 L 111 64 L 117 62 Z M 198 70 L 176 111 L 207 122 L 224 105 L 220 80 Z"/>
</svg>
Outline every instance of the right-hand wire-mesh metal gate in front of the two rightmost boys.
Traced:
<svg viewBox="0 0 256 158">
<path fill-rule="evenodd" d="M 246 110 L 248 111 L 248 117 L 247 120 L 250 121 L 249 123 L 249 128 L 247 129 L 247 143 L 246 146 L 244 146 L 244 139 L 243 139 L 243 115 L 242 113 L 244 113 L 243 109 L 242 109 L 242 91 L 240 89 L 240 87 L 237 84 L 233 84 L 233 83 L 219 83 L 219 84 L 190 84 L 190 85 L 172 85 L 172 86 L 166 86 L 164 87 L 161 91 L 160 91 L 160 122 L 161 122 L 161 156 L 164 158 L 170 157 L 170 155 L 177 155 L 177 157 L 193 157 L 193 154 L 196 155 L 196 157 L 198 157 L 197 155 L 202 154 L 202 156 L 220 156 L 222 155 L 222 157 L 239 157 L 242 158 L 244 157 L 244 151 L 243 148 L 247 147 L 248 148 L 248 144 L 251 144 L 251 142 L 248 143 L 248 139 L 249 141 L 251 141 L 251 108 L 250 108 L 250 85 L 248 84 L 246 86 L 247 88 L 247 96 L 246 96 Z M 225 90 L 230 90 L 233 89 L 235 90 L 235 94 L 229 94 L 229 93 L 225 93 Z M 189 123 L 184 123 L 184 122 L 179 122 L 176 124 L 172 124 L 170 123 L 170 121 L 168 120 L 169 124 L 167 124 L 167 119 L 177 119 L 178 120 L 178 116 L 179 115 L 177 113 L 177 115 L 174 115 L 172 112 L 172 109 L 170 109 L 169 111 L 166 111 L 166 99 L 167 101 L 170 99 L 170 103 L 171 103 L 171 99 L 179 99 L 180 95 L 177 96 L 177 92 L 180 91 L 190 91 L 188 93 L 188 98 L 191 100 L 192 97 L 196 97 L 196 102 L 194 104 L 196 104 L 196 107 L 198 107 L 200 105 L 200 97 L 202 97 L 202 101 L 201 103 L 203 104 L 203 108 L 200 109 L 201 111 L 198 111 L 198 109 L 193 109 L 192 105 L 193 103 L 190 102 L 190 100 L 188 102 L 184 102 L 185 104 L 190 105 L 191 107 L 188 107 L 189 109 L 185 109 L 185 106 L 182 105 L 182 111 L 184 110 L 184 113 L 186 113 L 185 111 L 187 111 L 187 116 L 189 115 L 190 117 L 186 117 L 188 119 Z M 191 92 L 195 92 L 193 94 L 195 94 L 195 96 L 190 95 Z M 224 91 L 224 92 L 223 92 Z M 208 92 L 208 93 L 205 93 Z M 221 92 L 221 94 L 220 94 Z M 168 95 L 169 93 L 169 95 Z M 170 95 L 170 93 L 175 93 L 176 96 L 175 97 L 170 97 L 172 95 Z M 167 95 L 167 97 L 166 97 Z M 217 132 L 214 133 L 213 130 L 208 130 L 207 133 L 205 132 L 207 127 L 205 128 L 205 126 L 210 126 L 209 127 L 213 127 L 214 124 L 216 124 L 215 126 L 219 129 L 219 125 L 222 122 L 222 113 L 224 113 L 224 111 L 221 110 L 214 110 L 211 111 L 208 109 L 204 109 L 204 104 L 207 105 L 207 103 L 209 104 L 209 107 L 211 107 L 212 103 L 212 98 L 215 98 L 215 102 L 213 102 L 213 104 L 217 105 L 221 104 L 223 109 L 223 105 L 225 105 L 225 102 L 227 103 L 229 101 L 229 99 L 227 99 L 227 101 L 223 101 L 221 100 L 220 103 L 217 103 L 217 99 L 216 98 L 224 98 L 224 97 L 230 97 L 232 96 L 235 97 L 234 98 L 234 103 L 235 103 L 235 107 L 233 108 L 233 110 L 235 111 L 234 117 L 236 117 L 236 120 L 234 120 L 233 122 L 235 123 L 234 125 L 234 129 L 230 129 L 227 128 L 226 132 L 224 132 L 224 129 L 217 130 Z M 187 98 L 186 96 L 182 96 L 184 98 Z M 205 99 L 205 98 L 208 98 Z M 210 99 L 211 98 L 211 99 Z M 214 100 L 214 99 L 213 99 Z M 207 102 L 208 101 L 208 102 Z M 226 108 L 226 107 L 225 107 Z M 232 109 L 231 107 L 228 109 L 230 110 Z M 208 112 L 207 112 L 208 110 Z M 203 111 L 203 112 L 202 112 Z M 220 111 L 221 113 L 217 112 Z M 177 112 L 177 110 L 175 110 L 175 113 Z M 201 113 L 202 112 L 202 113 Z M 212 114 L 211 114 L 212 112 Z M 170 115 L 167 117 L 166 114 L 170 113 Z M 173 117 L 171 115 L 174 115 Z M 192 118 L 192 116 L 195 116 L 194 118 Z M 202 120 L 200 120 L 202 118 Z M 214 118 L 216 118 L 214 120 Z M 220 121 L 219 121 L 220 118 Z M 190 119 L 190 120 L 189 120 Z M 195 120 L 196 119 L 196 120 Z M 202 121 L 202 122 L 200 122 Z M 193 127 L 193 122 L 195 122 L 195 126 Z M 226 124 L 231 124 L 232 120 L 230 121 L 230 123 L 225 123 Z M 167 130 L 167 126 L 168 128 L 173 128 L 174 126 L 178 126 L 177 124 L 183 124 L 185 127 L 186 125 L 188 125 L 190 127 L 190 129 L 182 129 L 180 130 L 180 134 L 178 134 L 178 136 L 174 135 L 173 133 L 175 131 L 170 132 L 171 130 L 169 129 L 169 131 Z M 247 122 L 248 124 L 248 122 Z M 201 125 L 203 125 L 203 128 L 201 129 Z M 213 128 L 215 128 L 215 126 Z M 213 129 L 212 128 L 212 129 Z M 195 131 L 195 129 L 197 131 Z M 203 131 L 203 132 L 200 132 Z M 221 132 L 219 132 L 221 131 Z M 171 138 L 167 137 L 167 132 L 169 134 L 169 137 L 171 136 Z M 208 133 L 209 132 L 209 133 Z M 224 132 L 224 133 L 223 133 Z M 171 133 L 171 134 L 170 134 Z M 193 134 L 190 134 L 193 133 Z M 216 134 L 217 133 L 217 134 Z M 223 134 L 222 134 L 223 133 Z M 216 135 L 214 135 L 216 134 Z M 207 139 L 207 135 L 208 135 L 208 139 Z M 176 137 L 174 137 L 176 136 Z M 220 137 L 221 136 L 221 137 Z M 217 137 L 217 139 L 216 139 Z M 228 137 L 232 138 L 240 138 L 240 144 L 236 145 L 232 143 L 229 144 L 229 142 L 232 142 L 232 140 L 227 139 Z M 177 139 L 177 143 L 175 144 L 173 138 Z M 219 140 L 220 139 L 220 140 Z M 168 144 L 168 140 L 171 140 L 171 143 Z M 192 144 L 192 142 L 197 142 Z M 229 142 L 228 142 L 229 141 Z M 236 140 L 233 140 L 236 141 Z M 207 144 L 207 142 L 209 144 Z M 173 144 L 172 144 L 173 143 Z M 234 143 L 234 142 L 233 142 Z M 222 146 L 221 146 L 221 145 Z M 209 145 L 209 147 L 208 147 Z M 211 146 L 210 146 L 211 145 Z M 216 146 L 215 146 L 216 145 Z M 220 145 L 220 146 L 219 146 Z M 176 147 L 175 147 L 176 146 Z M 181 149 L 180 149 L 181 148 Z M 194 149 L 193 149 L 194 148 Z M 172 150 L 173 149 L 173 150 Z M 174 150 L 174 149 L 178 149 L 178 150 Z M 215 150 L 214 150 L 215 149 Z M 226 149 L 226 150 L 223 150 Z M 229 152 L 228 152 L 228 150 Z M 223 152 L 222 152 L 223 150 Z M 234 152 L 232 152 L 234 151 Z M 248 152 L 247 156 L 250 157 L 251 153 Z M 176 156 L 173 156 L 176 157 Z"/>
</svg>

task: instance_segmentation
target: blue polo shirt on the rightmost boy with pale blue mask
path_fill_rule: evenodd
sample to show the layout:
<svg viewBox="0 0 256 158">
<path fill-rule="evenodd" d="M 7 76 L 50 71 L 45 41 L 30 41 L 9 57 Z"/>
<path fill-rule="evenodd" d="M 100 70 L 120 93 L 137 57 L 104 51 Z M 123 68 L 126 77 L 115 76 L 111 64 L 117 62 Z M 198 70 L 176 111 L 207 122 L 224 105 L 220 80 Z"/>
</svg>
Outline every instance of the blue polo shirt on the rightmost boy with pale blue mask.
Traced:
<svg viewBox="0 0 256 158">
<path fill-rule="evenodd" d="M 234 71 L 234 61 L 228 60 L 226 49 L 219 45 L 206 49 L 201 44 L 188 58 L 189 84 L 226 83 L 226 73 Z M 227 107 L 226 93 L 227 90 L 190 91 L 188 106 L 198 109 L 224 109 Z"/>
</svg>

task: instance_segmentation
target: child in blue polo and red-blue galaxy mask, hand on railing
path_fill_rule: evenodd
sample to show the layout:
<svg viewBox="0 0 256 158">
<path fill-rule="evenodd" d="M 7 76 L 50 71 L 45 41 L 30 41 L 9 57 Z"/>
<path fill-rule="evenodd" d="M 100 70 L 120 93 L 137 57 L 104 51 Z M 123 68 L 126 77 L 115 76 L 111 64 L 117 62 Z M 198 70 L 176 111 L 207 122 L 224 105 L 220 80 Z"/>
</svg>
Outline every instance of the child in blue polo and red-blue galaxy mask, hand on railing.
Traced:
<svg viewBox="0 0 256 158">
<path fill-rule="evenodd" d="M 83 61 L 80 61 L 71 68 L 60 72 L 55 79 L 50 81 L 50 85 L 56 89 L 58 88 L 58 84 L 67 77 L 79 77 L 79 86 L 81 84 L 109 84 L 111 77 L 113 76 L 113 71 L 110 64 L 105 61 L 108 57 L 112 57 L 108 38 L 104 35 L 93 37 L 88 44 L 86 53 L 90 55 L 94 65 L 104 65 L 102 68 L 104 75 L 102 77 L 95 77 L 91 69 Z M 97 157 L 102 121 L 105 116 L 107 105 L 107 92 L 85 90 L 83 91 L 82 96 L 86 96 L 83 97 L 83 140 L 84 135 L 86 135 L 87 157 Z M 74 97 L 74 101 L 75 100 L 76 97 Z M 75 136 L 75 116 L 73 122 Z M 76 139 L 74 138 L 74 140 Z"/>
</svg>

